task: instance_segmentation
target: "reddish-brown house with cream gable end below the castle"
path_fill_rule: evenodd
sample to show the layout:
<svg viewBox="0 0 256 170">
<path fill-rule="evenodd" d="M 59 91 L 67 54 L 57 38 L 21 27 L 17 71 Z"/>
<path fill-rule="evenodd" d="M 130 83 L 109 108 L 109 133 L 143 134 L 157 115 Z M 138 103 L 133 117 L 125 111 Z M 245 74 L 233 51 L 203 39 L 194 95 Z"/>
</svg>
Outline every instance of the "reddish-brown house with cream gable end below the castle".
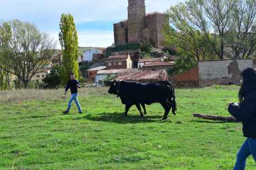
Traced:
<svg viewBox="0 0 256 170">
<path fill-rule="evenodd" d="M 131 56 L 127 54 L 119 56 L 110 56 L 105 62 L 106 69 L 131 69 L 133 68 L 133 62 Z"/>
</svg>

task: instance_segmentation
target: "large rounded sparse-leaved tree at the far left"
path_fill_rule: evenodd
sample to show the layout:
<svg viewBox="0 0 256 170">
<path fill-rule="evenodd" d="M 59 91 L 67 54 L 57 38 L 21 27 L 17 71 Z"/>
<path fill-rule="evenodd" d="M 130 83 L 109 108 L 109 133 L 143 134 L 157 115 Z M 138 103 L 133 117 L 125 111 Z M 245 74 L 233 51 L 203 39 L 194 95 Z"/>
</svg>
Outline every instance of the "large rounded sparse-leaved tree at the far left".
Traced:
<svg viewBox="0 0 256 170">
<path fill-rule="evenodd" d="M 0 57 L 0 62 L 8 66 L 27 88 L 32 77 L 44 72 L 49 65 L 54 43 L 47 33 L 38 31 L 31 23 L 15 20 L 5 24 L 9 24 L 11 29 L 0 32 L 0 37 L 11 34 L 11 39 L 2 47 L 4 55 Z"/>
</svg>

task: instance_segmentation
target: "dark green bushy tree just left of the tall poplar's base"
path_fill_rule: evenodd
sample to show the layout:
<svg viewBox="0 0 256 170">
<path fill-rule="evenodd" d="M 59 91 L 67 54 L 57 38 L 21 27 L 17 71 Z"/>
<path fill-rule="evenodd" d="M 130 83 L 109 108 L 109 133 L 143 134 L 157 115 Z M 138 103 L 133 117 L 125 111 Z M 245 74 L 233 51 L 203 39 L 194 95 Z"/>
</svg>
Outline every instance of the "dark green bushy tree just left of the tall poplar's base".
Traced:
<svg viewBox="0 0 256 170">
<path fill-rule="evenodd" d="M 44 88 L 60 87 L 62 82 L 62 68 L 60 66 L 53 67 L 50 74 L 47 74 L 42 81 L 45 83 Z"/>
</svg>

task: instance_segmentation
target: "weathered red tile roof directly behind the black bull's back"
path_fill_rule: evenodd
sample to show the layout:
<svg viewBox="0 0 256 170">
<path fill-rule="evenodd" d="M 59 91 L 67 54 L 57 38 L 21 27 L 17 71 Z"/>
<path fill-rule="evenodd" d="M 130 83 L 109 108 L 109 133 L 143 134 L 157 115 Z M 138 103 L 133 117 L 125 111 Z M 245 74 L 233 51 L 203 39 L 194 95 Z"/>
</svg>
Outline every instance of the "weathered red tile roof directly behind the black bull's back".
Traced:
<svg viewBox="0 0 256 170">
<path fill-rule="evenodd" d="M 168 81 L 170 77 L 166 71 L 132 71 L 119 73 L 117 79 L 123 81 Z"/>
</svg>

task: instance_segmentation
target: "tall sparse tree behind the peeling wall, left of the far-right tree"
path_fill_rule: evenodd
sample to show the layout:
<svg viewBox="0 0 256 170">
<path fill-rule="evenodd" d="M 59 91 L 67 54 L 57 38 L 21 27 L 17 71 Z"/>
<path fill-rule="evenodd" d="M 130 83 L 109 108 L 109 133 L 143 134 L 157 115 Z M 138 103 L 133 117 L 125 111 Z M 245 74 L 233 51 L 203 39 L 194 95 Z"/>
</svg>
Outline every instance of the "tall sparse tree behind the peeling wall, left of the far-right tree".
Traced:
<svg viewBox="0 0 256 170">
<path fill-rule="evenodd" d="M 211 41 L 210 33 L 219 37 L 219 44 L 211 42 L 212 48 L 220 59 L 224 58 L 225 37 L 233 27 L 233 0 L 191 0 L 186 2 L 190 22 L 205 33 Z"/>
</svg>

